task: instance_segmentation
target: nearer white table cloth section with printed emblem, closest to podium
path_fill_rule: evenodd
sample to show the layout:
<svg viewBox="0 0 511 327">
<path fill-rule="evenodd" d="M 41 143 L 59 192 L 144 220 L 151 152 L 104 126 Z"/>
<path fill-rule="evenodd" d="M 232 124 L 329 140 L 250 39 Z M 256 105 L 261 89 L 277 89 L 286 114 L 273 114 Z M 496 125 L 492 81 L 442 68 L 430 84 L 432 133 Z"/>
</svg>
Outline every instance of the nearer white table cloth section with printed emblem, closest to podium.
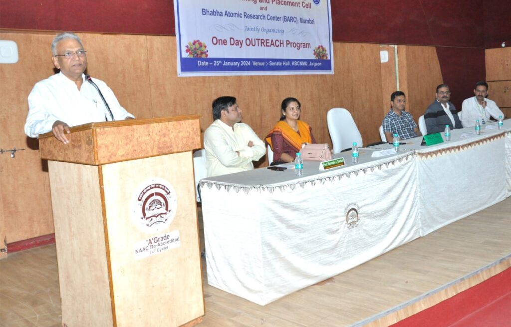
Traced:
<svg viewBox="0 0 511 327">
<path fill-rule="evenodd" d="M 208 284 L 265 305 L 419 237 L 415 153 L 371 152 L 201 180 Z"/>
</svg>

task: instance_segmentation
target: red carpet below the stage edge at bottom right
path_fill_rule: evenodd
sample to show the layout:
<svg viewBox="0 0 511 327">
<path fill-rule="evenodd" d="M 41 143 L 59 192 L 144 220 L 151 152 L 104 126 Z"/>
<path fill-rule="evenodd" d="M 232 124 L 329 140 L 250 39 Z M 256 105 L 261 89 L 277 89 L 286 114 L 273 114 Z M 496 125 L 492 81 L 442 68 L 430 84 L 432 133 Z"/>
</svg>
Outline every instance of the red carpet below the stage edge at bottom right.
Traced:
<svg viewBox="0 0 511 327">
<path fill-rule="evenodd" d="M 511 268 L 392 327 L 511 326 Z"/>
</svg>

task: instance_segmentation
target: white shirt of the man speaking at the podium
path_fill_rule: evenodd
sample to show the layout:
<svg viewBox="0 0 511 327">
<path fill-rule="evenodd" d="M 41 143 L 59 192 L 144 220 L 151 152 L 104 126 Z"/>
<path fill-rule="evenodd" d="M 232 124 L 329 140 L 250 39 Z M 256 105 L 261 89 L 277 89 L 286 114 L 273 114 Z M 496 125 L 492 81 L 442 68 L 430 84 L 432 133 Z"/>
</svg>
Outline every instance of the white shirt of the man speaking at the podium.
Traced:
<svg viewBox="0 0 511 327">
<path fill-rule="evenodd" d="M 111 121 L 98 90 L 85 80 L 80 89 L 75 82 L 59 73 L 37 82 L 29 95 L 29 113 L 25 123 L 25 134 L 37 137 L 52 130 L 55 121 L 69 126 Z M 133 115 L 126 111 L 105 82 L 92 79 L 105 97 L 115 120 L 124 120 Z"/>
</svg>

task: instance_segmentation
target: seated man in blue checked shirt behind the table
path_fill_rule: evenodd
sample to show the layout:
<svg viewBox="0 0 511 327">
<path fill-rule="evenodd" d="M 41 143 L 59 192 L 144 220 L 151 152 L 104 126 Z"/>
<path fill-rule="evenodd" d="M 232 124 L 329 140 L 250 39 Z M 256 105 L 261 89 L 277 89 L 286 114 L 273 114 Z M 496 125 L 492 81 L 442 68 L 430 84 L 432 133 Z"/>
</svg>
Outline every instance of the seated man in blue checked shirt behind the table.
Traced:
<svg viewBox="0 0 511 327">
<path fill-rule="evenodd" d="M 382 126 L 387 142 L 392 142 L 392 137 L 398 133 L 400 139 L 408 139 L 421 136 L 417 124 L 412 115 L 405 111 L 406 96 L 402 91 L 393 92 L 390 96 L 390 110 L 383 119 Z"/>
</svg>

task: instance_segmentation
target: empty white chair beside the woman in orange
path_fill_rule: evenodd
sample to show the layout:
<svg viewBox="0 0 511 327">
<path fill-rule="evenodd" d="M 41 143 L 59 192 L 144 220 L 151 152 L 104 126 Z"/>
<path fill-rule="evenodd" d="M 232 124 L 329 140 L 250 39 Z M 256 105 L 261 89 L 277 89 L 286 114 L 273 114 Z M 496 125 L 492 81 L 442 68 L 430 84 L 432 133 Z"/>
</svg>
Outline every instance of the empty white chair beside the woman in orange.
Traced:
<svg viewBox="0 0 511 327">
<path fill-rule="evenodd" d="M 350 111 L 344 108 L 330 109 L 327 113 L 327 124 L 334 153 L 351 148 L 353 142 L 357 142 L 359 147 L 362 146 L 362 135 Z"/>
</svg>

